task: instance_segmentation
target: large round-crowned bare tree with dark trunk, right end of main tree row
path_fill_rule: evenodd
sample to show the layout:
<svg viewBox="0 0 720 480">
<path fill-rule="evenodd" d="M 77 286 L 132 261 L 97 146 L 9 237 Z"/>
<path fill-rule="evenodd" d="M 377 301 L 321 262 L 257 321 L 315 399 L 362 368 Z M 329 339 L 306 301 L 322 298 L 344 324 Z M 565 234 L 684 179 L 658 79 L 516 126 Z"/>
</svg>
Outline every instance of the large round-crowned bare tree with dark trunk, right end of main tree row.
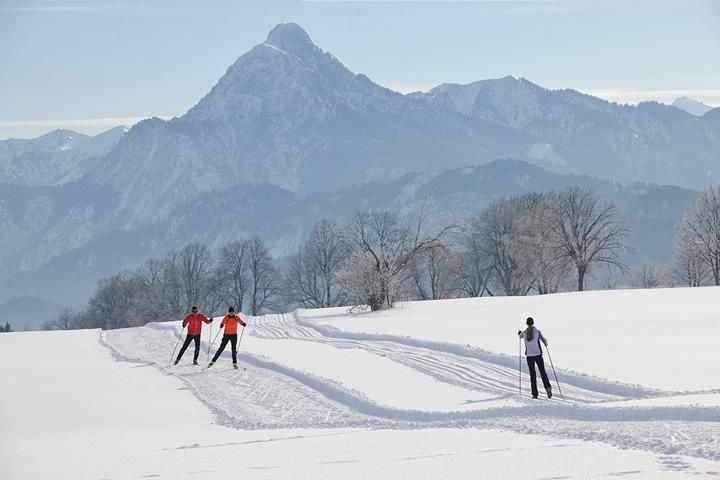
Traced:
<svg viewBox="0 0 720 480">
<path fill-rule="evenodd" d="M 614 204 L 601 205 L 588 190 L 570 187 L 553 201 L 551 228 L 555 258 L 568 259 L 577 270 L 578 291 L 585 289 L 591 265 L 606 263 L 624 271 L 628 229 Z"/>
</svg>

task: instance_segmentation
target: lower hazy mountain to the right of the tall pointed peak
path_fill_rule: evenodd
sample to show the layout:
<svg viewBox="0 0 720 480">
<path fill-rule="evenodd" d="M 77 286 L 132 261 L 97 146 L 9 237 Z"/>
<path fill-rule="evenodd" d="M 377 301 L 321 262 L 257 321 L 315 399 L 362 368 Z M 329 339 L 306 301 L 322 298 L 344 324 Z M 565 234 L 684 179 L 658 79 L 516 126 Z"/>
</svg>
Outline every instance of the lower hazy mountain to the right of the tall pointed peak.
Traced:
<svg viewBox="0 0 720 480">
<path fill-rule="evenodd" d="M 690 188 L 720 180 L 716 127 L 659 103 L 618 105 L 515 77 L 412 95 L 529 136 L 521 158 L 556 171 Z"/>
</svg>

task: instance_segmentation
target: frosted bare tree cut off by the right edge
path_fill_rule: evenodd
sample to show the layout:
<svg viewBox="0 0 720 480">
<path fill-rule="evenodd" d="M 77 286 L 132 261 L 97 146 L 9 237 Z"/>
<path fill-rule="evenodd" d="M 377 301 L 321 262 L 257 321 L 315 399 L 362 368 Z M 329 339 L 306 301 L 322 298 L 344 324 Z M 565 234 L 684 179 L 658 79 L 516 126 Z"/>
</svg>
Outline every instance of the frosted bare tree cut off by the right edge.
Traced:
<svg viewBox="0 0 720 480">
<path fill-rule="evenodd" d="M 683 253 L 696 256 L 720 285 L 720 185 L 710 185 L 698 196 L 678 237 Z"/>
</svg>

